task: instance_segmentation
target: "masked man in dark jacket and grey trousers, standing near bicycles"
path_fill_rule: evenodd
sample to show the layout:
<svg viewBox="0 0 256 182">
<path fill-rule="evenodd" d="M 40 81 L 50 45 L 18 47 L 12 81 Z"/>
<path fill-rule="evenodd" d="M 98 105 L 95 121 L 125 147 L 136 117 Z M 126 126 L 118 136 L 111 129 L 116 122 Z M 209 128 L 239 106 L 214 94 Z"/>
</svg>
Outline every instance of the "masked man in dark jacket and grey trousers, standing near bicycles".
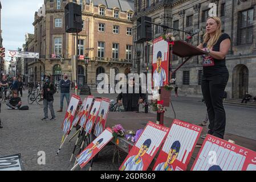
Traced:
<svg viewBox="0 0 256 182">
<path fill-rule="evenodd" d="M 48 107 L 51 111 L 51 121 L 55 120 L 55 113 L 54 113 L 54 94 L 56 92 L 56 89 L 54 85 L 50 82 L 50 78 L 46 76 L 45 78 L 45 83 L 43 85 L 43 111 L 44 111 L 44 120 L 49 120 L 48 119 Z"/>
</svg>

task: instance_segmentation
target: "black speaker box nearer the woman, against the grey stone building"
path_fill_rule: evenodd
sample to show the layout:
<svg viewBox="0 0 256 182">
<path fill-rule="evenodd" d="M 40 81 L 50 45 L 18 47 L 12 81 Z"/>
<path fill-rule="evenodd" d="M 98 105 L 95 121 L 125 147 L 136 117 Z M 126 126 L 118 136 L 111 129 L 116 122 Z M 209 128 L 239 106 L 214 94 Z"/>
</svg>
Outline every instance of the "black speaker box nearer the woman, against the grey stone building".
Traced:
<svg viewBox="0 0 256 182">
<path fill-rule="evenodd" d="M 152 40 L 152 18 L 141 16 L 137 19 L 137 42 L 147 42 Z"/>
</svg>

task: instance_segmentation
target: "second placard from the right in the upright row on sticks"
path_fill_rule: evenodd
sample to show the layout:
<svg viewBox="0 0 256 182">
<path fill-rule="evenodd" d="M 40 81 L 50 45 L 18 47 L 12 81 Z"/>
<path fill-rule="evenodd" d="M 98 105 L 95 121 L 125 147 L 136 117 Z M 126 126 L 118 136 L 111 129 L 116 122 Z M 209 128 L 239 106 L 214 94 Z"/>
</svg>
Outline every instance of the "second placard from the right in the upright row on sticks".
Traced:
<svg viewBox="0 0 256 182">
<path fill-rule="evenodd" d="M 91 134 L 92 132 L 92 127 L 94 127 L 97 115 L 99 114 L 100 105 L 101 98 L 96 98 L 96 100 L 94 101 L 94 105 L 92 106 L 90 115 L 87 118 L 86 127 L 84 128 L 84 131 L 86 131 L 87 134 Z"/>
</svg>

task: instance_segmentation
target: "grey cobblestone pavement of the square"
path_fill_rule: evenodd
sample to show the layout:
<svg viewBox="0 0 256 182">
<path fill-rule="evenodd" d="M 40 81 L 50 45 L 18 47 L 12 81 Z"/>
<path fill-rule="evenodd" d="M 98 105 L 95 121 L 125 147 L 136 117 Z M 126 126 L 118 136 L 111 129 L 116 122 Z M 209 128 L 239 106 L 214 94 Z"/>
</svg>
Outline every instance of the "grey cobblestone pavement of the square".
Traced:
<svg viewBox="0 0 256 182">
<path fill-rule="evenodd" d="M 27 92 L 23 94 L 23 105 L 27 104 Z M 93 93 L 94 94 L 94 93 Z M 102 96 L 95 94 L 95 96 Z M 84 98 L 85 96 L 82 96 Z M 105 97 L 115 99 L 116 94 L 107 94 Z M 67 108 L 66 101 L 64 109 Z M 200 123 L 205 116 L 205 106 L 200 102 L 200 98 L 173 98 L 173 105 L 176 109 L 177 118 Z M 66 142 L 56 155 L 62 139 L 62 130 L 60 129 L 63 113 L 56 113 L 55 121 L 41 121 L 43 118 L 43 106 L 36 103 L 29 105 L 30 110 L 7 110 L 2 103 L 3 129 L 0 130 L 0 156 L 21 153 L 22 163 L 25 170 L 70 170 L 74 164 L 69 162 L 75 140 Z M 59 94 L 55 94 L 54 109 L 59 109 Z M 227 112 L 227 132 L 241 135 L 243 137 L 256 139 L 255 134 L 255 109 L 226 106 Z M 49 112 L 50 114 L 50 112 Z M 166 112 L 168 117 L 174 117 L 172 110 L 168 108 Z M 49 115 L 50 117 L 50 115 Z M 194 122 L 197 121 L 197 122 Z M 71 135 L 75 133 L 72 131 Z M 70 137 L 71 137 L 70 135 Z M 118 170 L 126 154 L 121 152 L 121 160 L 112 164 L 113 146 L 106 146 L 95 161 L 92 170 Z M 38 152 L 46 153 L 46 165 L 38 164 Z M 82 170 L 88 170 L 87 165 Z"/>
</svg>

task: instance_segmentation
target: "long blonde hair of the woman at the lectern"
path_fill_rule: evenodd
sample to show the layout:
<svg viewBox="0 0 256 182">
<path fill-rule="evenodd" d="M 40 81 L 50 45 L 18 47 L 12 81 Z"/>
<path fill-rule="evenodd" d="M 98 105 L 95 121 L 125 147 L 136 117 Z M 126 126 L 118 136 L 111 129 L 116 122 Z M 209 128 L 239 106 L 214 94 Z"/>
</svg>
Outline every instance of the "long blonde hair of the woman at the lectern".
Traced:
<svg viewBox="0 0 256 182">
<path fill-rule="evenodd" d="M 210 40 L 210 34 L 208 34 L 207 32 L 205 33 L 205 35 L 204 35 L 204 42 L 202 44 L 204 45 L 205 43 L 208 43 L 207 48 L 212 48 L 218 42 L 218 39 L 222 35 L 222 32 L 221 32 L 221 19 L 218 18 L 217 16 L 210 16 L 208 19 L 211 19 L 211 18 L 215 20 L 215 22 L 218 25 L 218 28 L 217 28 L 217 30 L 215 32 L 215 35 L 213 36 L 212 40 Z M 210 42 L 208 42 L 209 40 L 210 40 Z"/>
</svg>

